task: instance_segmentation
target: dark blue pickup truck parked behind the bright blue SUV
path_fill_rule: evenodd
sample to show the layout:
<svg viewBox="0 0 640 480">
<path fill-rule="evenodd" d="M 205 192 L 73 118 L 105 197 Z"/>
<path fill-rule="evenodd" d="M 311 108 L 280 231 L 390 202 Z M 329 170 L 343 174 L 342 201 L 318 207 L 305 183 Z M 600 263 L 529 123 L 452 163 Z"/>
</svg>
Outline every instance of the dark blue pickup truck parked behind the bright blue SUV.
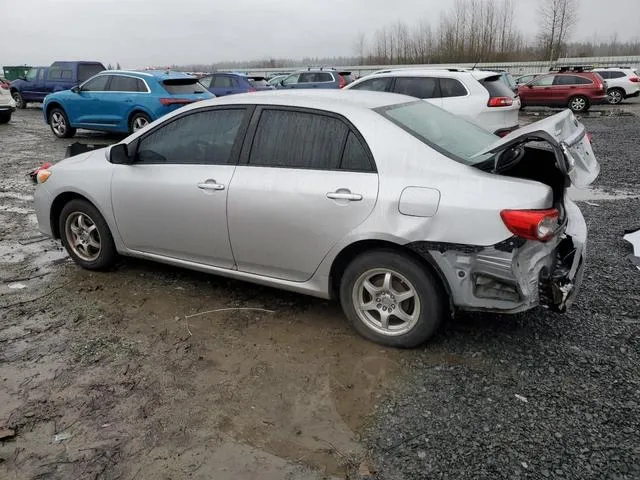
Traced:
<svg viewBox="0 0 640 480">
<path fill-rule="evenodd" d="M 50 93 L 69 90 L 105 70 L 100 62 L 53 62 L 50 67 L 32 67 L 24 78 L 11 82 L 17 108 L 42 102 Z"/>
</svg>

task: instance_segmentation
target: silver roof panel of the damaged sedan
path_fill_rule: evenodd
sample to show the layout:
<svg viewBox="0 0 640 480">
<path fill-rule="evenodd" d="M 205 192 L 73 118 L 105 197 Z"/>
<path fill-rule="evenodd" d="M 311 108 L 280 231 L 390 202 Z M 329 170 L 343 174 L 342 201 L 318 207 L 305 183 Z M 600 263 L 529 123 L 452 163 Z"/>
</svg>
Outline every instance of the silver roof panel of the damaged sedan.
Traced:
<svg viewBox="0 0 640 480">
<path fill-rule="evenodd" d="M 374 108 L 416 101 L 420 100 L 396 93 L 364 90 L 267 90 L 201 100 L 192 104 L 191 108 L 238 104 L 279 105 L 346 114 L 354 110 L 373 110 Z"/>
</svg>

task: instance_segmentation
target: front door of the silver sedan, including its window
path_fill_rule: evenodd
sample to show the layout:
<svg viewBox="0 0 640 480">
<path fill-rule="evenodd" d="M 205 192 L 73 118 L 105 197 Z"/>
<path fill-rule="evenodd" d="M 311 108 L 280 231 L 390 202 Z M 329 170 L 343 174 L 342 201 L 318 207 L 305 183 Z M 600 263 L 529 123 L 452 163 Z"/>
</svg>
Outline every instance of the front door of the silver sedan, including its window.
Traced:
<svg viewBox="0 0 640 480">
<path fill-rule="evenodd" d="M 115 165 L 111 202 L 134 250 L 233 268 L 227 193 L 246 108 L 197 110 L 142 136 L 131 165 Z"/>
</svg>

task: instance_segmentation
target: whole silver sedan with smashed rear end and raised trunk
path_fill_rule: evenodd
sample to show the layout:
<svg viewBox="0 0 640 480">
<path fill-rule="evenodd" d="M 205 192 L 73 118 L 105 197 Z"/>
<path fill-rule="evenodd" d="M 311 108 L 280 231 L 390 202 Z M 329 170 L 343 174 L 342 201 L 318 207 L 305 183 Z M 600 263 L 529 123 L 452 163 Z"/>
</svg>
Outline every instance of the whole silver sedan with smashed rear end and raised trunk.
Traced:
<svg viewBox="0 0 640 480">
<path fill-rule="evenodd" d="M 198 102 L 38 172 L 40 229 L 82 267 L 118 255 L 336 298 L 413 347 L 456 310 L 563 311 L 587 229 L 567 187 L 599 166 L 570 111 L 500 139 L 378 92 Z"/>
</svg>

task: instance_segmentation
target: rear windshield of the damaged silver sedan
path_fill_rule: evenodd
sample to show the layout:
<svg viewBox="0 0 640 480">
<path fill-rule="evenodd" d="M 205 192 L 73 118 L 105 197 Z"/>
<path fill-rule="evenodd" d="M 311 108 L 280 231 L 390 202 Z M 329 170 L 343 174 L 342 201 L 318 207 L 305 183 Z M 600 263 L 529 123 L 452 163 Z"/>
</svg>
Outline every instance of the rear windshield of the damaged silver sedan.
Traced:
<svg viewBox="0 0 640 480">
<path fill-rule="evenodd" d="M 475 155 L 498 140 L 496 135 L 422 100 L 375 111 L 418 140 L 465 165 L 491 158 L 490 153 Z"/>
</svg>

